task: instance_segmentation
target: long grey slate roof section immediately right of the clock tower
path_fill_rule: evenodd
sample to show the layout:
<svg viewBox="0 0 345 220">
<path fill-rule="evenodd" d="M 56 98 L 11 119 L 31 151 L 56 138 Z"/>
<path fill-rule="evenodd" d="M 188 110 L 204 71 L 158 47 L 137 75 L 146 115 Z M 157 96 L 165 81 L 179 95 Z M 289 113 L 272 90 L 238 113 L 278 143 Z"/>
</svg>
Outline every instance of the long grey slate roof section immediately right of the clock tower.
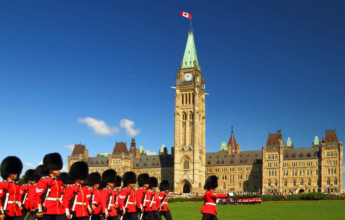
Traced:
<svg viewBox="0 0 345 220">
<path fill-rule="evenodd" d="M 227 152 L 206 153 L 206 167 L 246 164 L 262 164 L 262 151 L 240 151 L 239 155 L 236 152 L 231 152 L 230 155 Z"/>
</svg>

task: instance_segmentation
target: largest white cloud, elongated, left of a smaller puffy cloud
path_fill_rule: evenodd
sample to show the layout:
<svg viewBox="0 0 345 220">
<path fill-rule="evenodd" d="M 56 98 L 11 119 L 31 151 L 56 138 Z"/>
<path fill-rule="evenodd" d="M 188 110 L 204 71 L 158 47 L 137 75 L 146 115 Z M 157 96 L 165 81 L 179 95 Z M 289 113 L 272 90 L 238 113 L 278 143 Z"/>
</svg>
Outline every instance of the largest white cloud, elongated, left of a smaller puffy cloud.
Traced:
<svg viewBox="0 0 345 220">
<path fill-rule="evenodd" d="M 79 118 L 79 123 L 85 123 L 89 128 L 93 129 L 93 133 L 99 136 L 114 136 L 115 134 L 120 133 L 120 129 L 118 127 L 110 127 L 108 124 L 103 120 L 97 120 L 95 118 Z"/>
</svg>

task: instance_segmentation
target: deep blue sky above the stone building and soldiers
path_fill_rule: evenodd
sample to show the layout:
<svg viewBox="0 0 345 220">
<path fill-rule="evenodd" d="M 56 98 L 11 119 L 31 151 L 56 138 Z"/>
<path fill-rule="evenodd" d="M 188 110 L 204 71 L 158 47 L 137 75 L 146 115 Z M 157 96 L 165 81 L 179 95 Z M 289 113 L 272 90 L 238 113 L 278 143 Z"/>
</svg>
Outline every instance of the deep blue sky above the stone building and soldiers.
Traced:
<svg viewBox="0 0 345 220">
<path fill-rule="evenodd" d="M 295 147 L 334 127 L 344 141 L 343 1 L 10 1 L 0 3 L 0 159 L 36 166 L 57 151 L 66 162 L 70 144 L 95 156 L 132 134 L 170 152 L 170 87 L 190 25 L 180 11 L 210 94 L 207 152 L 228 141 L 231 119 L 242 150 L 277 128 Z"/>
</svg>

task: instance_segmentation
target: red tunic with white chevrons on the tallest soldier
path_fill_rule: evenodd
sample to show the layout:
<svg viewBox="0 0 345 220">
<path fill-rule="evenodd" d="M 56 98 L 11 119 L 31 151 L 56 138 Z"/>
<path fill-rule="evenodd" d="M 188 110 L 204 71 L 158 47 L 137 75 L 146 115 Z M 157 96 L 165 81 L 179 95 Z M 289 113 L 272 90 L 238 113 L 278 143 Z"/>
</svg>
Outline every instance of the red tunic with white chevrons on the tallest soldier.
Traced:
<svg viewBox="0 0 345 220">
<path fill-rule="evenodd" d="M 50 193 L 48 199 L 41 203 L 43 194 L 47 187 L 50 186 Z M 35 193 L 33 194 L 33 208 L 37 209 L 39 213 L 42 212 L 41 207 L 46 207 L 47 210 L 43 210 L 43 214 L 63 214 L 62 204 L 60 202 L 62 181 L 52 177 L 42 177 L 36 184 Z"/>
</svg>

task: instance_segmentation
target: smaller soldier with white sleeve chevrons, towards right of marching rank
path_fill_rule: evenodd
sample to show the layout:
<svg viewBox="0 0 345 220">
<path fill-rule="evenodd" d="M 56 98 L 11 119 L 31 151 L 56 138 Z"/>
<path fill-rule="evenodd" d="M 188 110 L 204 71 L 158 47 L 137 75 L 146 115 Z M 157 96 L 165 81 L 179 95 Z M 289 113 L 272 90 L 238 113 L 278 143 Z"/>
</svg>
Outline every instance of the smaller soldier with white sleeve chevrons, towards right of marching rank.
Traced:
<svg viewBox="0 0 345 220">
<path fill-rule="evenodd" d="M 122 220 L 138 220 L 137 209 L 135 207 L 135 190 L 134 184 L 137 182 L 137 175 L 128 171 L 122 176 L 124 185 L 119 192 L 119 209 L 123 216 Z"/>
</svg>

